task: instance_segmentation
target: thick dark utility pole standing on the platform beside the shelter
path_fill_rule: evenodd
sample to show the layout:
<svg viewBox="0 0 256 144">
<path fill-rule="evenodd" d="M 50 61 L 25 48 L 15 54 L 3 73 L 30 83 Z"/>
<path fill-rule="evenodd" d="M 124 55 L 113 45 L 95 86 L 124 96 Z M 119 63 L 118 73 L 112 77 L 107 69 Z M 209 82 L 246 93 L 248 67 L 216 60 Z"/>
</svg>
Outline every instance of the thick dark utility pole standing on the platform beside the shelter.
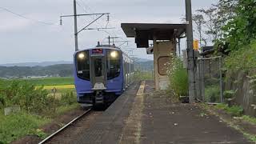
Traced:
<svg viewBox="0 0 256 144">
<path fill-rule="evenodd" d="M 192 26 L 192 8 L 191 0 L 186 1 L 186 42 L 187 42 L 187 58 L 188 58 L 188 75 L 189 75 L 189 98 L 190 103 L 194 102 L 196 96 L 195 74 L 194 74 L 194 49 L 193 49 L 193 26 Z"/>
</svg>

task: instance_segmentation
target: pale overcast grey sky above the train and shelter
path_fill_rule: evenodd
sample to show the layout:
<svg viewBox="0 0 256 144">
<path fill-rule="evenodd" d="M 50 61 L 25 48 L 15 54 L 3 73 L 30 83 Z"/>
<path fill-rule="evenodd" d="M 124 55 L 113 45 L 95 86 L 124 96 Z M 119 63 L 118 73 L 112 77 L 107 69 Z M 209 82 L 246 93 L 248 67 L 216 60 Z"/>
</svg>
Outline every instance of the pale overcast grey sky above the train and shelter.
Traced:
<svg viewBox="0 0 256 144">
<path fill-rule="evenodd" d="M 17 62 L 72 61 L 74 54 L 74 19 L 61 15 L 73 14 L 73 0 L 1 0 L 0 64 Z M 180 23 L 185 17 L 185 0 L 77 0 L 78 14 L 110 13 L 90 26 L 114 27 L 98 31 L 83 30 L 78 34 L 79 49 L 90 48 L 106 37 L 129 40 L 122 50 L 133 50 L 138 58 L 153 59 L 145 49 L 136 49 L 134 38 L 126 38 L 121 29 L 124 22 Z M 192 0 L 193 11 L 206 8 L 217 0 Z M 13 13 L 15 14 L 13 14 Z M 18 14 L 18 15 L 17 15 Z M 78 18 L 78 30 L 96 16 Z M 122 43 L 120 43 L 122 44 Z M 116 44 L 118 45 L 118 44 Z M 185 49 L 183 42 L 182 49 Z"/>
</svg>

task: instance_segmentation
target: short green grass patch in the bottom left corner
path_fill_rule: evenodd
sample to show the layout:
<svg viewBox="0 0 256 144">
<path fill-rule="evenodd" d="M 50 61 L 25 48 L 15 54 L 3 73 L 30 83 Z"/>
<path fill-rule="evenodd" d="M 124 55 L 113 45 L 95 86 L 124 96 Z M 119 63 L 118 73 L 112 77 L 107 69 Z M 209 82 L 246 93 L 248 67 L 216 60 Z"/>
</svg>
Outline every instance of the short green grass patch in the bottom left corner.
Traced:
<svg viewBox="0 0 256 144">
<path fill-rule="evenodd" d="M 25 135 L 38 135 L 38 127 L 50 122 L 48 118 L 19 112 L 5 116 L 0 114 L 0 143 L 10 143 Z"/>
</svg>

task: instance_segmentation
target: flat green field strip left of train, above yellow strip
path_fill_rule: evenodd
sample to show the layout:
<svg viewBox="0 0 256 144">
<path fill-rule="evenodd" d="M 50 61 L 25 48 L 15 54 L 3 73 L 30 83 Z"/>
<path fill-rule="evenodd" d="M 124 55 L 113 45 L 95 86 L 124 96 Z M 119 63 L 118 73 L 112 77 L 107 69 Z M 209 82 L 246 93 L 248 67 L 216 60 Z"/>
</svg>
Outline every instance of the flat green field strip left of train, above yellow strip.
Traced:
<svg viewBox="0 0 256 144">
<path fill-rule="evenodd" d="M 35 86 L 74 85 L 74 78 L 72 77 L 31 78 L 25 81 L 31 82 Z"/>
</svg>

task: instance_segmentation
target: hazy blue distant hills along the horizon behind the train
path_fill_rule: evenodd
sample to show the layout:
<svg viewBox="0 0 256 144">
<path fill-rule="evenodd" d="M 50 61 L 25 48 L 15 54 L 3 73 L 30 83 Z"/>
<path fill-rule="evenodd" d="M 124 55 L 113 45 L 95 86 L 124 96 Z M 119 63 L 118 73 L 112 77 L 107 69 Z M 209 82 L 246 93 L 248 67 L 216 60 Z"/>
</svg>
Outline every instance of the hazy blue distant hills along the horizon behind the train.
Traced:
<svg viewBox="0 0 256 144">
<path fill-rule="evenodd" d="M 135 58 L 134 70 L 153 70 L 153 60 Z M 25 62 L 0 65 L 1 78 L 24 78 L 38 76 L 73 76 L 73 62 Z"/>
</svg>

